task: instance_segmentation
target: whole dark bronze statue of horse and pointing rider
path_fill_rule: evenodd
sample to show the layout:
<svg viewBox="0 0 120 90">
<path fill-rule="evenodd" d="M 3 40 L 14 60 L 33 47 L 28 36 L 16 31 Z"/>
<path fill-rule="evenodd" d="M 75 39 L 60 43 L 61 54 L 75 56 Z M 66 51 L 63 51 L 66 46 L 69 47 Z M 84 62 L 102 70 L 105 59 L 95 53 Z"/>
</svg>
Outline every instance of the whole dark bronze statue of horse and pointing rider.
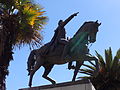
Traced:
<svg viewBox="0 0 120 90">
<path fill-rule="evenodd" d="M 70 63 L 70 68 L 71 62 L 76 61 L 72 79 L 72 81 L 75 81 L 76 75 L 84 61 L 94 60 L 97 63 L 97 59 L 89 54 L 88 44 L 96 41 L 98 27 L 101 25 L 101 23 L 98 23 L 98 20 L 95 22 L 85 22 L 71 39 L 66 38 L 64 27 L 77 14 L 78 12 L 72 14 L 64 21 L 59 20 L 58 27 L 51 41 L 39 49 L 31 51 L 27 62 L 30 87 L 32 85 L 33 75 L 41 66 L 45 68 L 42 77 L 49 80 L 52 84 L 56 84 L 53 79 L 48 77 L 55 64 Z"/>
</svg>

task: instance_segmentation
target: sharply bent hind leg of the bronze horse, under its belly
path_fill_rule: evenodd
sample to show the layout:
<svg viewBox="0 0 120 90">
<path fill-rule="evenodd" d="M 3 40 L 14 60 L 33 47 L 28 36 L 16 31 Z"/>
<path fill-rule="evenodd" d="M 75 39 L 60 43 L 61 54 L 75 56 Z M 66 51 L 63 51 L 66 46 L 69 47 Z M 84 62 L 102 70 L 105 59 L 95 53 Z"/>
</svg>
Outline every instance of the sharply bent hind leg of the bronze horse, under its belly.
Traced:
<svg viewBox="0 0 120 90">
<path fill-rule="evenodd" d="M 50 64 L 50 65 L 45 65 L 45 71 L 44 74 L 42 75 L 43 78 L 49 80 L 52 84 L 56 84 L 56 82 L 54 80 L 52 80 L 51 78 L 49 78 L 47 75 L 50 73 L 50 71 L 52 70 L 54 64 Z"/>
</svg>

